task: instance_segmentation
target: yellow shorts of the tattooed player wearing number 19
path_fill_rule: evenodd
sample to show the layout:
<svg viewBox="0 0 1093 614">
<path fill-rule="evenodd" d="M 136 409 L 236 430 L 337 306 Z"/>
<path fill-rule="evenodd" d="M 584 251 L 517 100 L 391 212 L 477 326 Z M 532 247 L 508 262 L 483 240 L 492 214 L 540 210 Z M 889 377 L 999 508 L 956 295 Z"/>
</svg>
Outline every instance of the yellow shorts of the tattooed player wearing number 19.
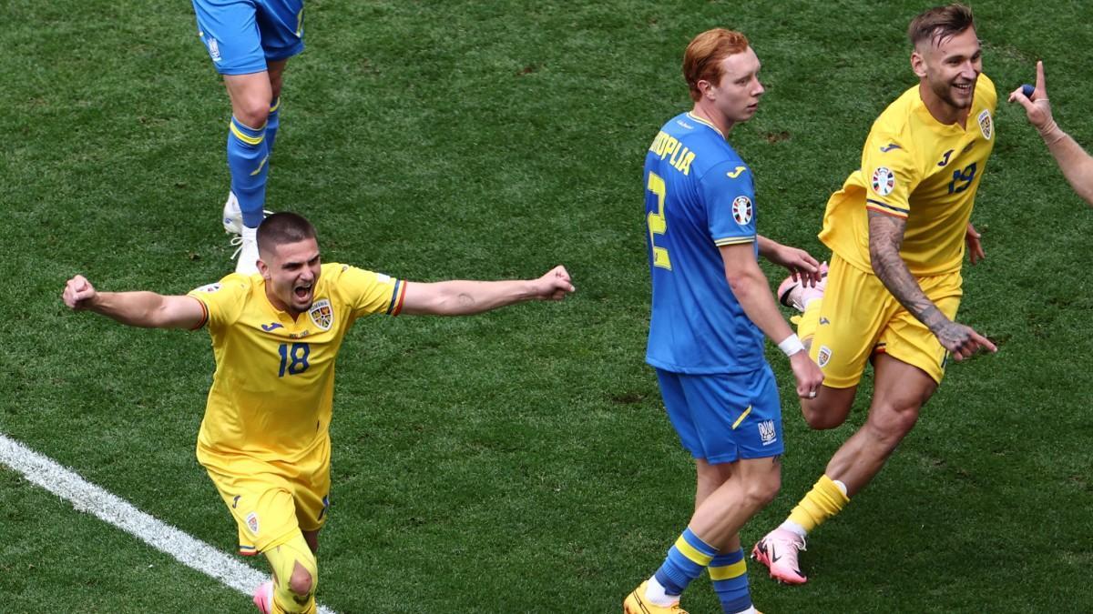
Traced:
<svg viewBox="0 0 1093 614">
<path fill-rule="evenodd" d="M 960 271 L 916 279 L 938 309 L 955 319 L 963 296 Z M 922 369 L 938 383 L 949 357 L 938 338 L 900 305 L 877 275 L 832 255 L 809 351 L 824 374 L 824 386 L 857 386 L 866 363 L 881 352 Z"/>
</svg>

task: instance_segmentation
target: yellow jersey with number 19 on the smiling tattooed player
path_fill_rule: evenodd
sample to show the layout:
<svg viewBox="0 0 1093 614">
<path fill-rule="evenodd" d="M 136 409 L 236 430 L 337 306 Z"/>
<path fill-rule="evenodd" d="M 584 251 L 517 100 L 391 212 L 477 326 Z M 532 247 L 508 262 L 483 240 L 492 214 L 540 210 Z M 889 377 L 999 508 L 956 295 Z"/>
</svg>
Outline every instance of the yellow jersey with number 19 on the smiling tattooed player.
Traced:
<svg viewBox="0 0 1093 614">
<path fill-rule="evenodd" d="M 916 85 L 873 122 L 861 168 L 832 194 L 822 240 L 844 260 L 872 272 L 867 211 L 907 221 L 900 256 L 916 276 L 959 271 L 975 192 L 995 147 L 998 94 L 980 74 L 964 127 L 930 115 Z"/>
</svg>

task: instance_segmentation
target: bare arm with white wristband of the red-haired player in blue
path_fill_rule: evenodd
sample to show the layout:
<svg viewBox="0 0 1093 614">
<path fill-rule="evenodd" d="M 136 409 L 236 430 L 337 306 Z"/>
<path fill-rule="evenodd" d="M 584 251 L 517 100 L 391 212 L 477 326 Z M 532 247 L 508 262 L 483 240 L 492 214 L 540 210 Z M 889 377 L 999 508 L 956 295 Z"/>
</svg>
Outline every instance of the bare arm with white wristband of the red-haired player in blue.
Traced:
<svg viewBox="0 0 1093 614">
<path fill-rule="evenodd" d="M 726 245 L 719 249 L 725 263 L 725 279 L 729 282 L 729 290 L 737 297 L 737 303 L 743 308 L 748 319 L 789 356 L 789 366 L 797 379 L 797 394 L 809 399 L 815 397 L 823 381 L 823 373 L 809 358 L 800 340 L 778 311 L 766 275 L 753 256 L 754 248 L 745 243 Z"/>
</svg>

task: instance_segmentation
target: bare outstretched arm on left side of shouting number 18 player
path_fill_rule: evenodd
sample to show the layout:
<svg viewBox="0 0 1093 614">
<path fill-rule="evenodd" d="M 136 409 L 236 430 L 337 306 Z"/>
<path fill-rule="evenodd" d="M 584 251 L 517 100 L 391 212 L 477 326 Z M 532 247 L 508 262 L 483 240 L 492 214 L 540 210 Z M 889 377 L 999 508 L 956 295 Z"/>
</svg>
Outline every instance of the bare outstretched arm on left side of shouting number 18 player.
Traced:
<svg viewBox="0 0 1093 614">
<path fill-rule="evenodd" d="M 204 307 L 192 296 L 164 296 L 154 292 L 98 292 L 83 275 L 64 285 L 64 305 L 141 328 L 193 329 L 204 322 Z"/>
</svg>

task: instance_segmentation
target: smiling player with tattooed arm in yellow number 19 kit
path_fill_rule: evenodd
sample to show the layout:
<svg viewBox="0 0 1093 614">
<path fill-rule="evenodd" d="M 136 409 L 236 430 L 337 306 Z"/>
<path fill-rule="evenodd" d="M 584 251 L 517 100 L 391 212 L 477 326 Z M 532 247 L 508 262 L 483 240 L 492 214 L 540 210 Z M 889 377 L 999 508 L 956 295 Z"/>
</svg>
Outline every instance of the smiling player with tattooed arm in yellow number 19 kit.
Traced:
<svg viewBox="0 0 1093 614">
<path fill-rule="evenodd" d="M 827 201 L 820 239 L 832 249 L 827 278 L 810 288 L 783 283 L 783 303 L 804 312 L 798 334 L 824 373 L 802 399 L 812 428 L 846 421 L 873 362 L 866 424 L 835 452 L 824 475 L 752 555 L 781 581 L 801 583 L 804 536 L 838 513 L 881 470 L 941 381 L 948 354 L 960 361 L 995 345 L 954 321 L 976 189 L 995 145 L 995 85 L 982 74 L 972 11 L 939 7 L 908 28 L 918 85 L 881 114 L 861 168 Z"/>
</svg>

